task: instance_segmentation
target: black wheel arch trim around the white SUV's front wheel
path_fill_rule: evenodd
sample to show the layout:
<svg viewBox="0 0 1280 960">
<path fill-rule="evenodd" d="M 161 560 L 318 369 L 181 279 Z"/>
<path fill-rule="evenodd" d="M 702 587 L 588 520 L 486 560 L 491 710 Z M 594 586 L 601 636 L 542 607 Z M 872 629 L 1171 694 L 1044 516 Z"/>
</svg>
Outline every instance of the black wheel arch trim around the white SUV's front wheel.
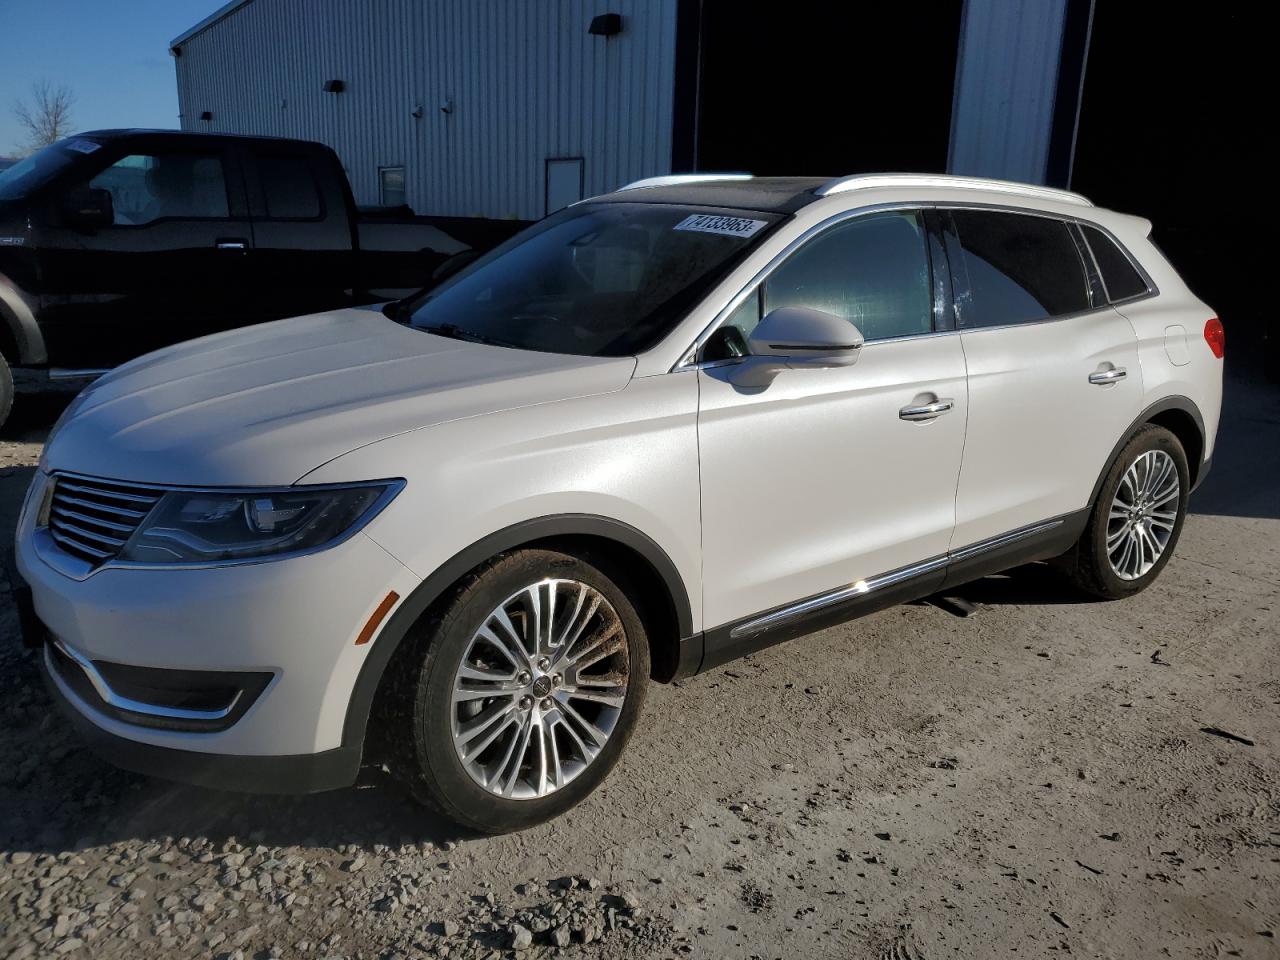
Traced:
<svg viewBox="0 0 1280 960">
<path fill-rule="evenodd" d="M 563 515 L 515 524 L 471 544 L 424 580 L 378 632 L 347 704 L 342 742 L 362 749 L 374 701 L 392 657 L 421 617 L 468 572 L 499 553 L 543 547 L 602 558 L 625 567 L 625 579 L 649 634 L 653 677 L 669 681 L 696 672 L 701 635 L 694 635 L 689 591 L 676 564 L 652 538 L 608 517 Z"/>
</svg>

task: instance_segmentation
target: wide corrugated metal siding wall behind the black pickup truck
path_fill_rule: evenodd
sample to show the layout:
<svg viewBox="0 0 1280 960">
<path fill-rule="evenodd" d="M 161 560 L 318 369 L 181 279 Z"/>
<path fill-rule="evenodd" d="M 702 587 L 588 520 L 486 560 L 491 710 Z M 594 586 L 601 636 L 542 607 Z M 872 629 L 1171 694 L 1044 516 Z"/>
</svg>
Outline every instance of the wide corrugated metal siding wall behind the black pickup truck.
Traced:
<svg viewBox="0 0 1280 960">
<path fill-rule="evenodd" d="M 623 33 L 589 36 L 607 12 Z M 588 193 L 669 172 L 675 37 L 676 0 L 255 0 L 174 74 L 183 129 L 325 142 L 357 202 L 403 164 L 420 212 L 532 219 L 548 157 L 584 157 Z"/>
</svg>

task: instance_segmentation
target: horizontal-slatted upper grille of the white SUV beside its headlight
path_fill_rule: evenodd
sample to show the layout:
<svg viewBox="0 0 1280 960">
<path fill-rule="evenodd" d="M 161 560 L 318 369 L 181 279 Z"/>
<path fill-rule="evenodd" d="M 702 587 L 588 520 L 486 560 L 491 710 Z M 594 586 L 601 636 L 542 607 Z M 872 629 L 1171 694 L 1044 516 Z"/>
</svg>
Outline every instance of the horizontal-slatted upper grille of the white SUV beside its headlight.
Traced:
<svg viewBox="0 0 1280 960">
<path fill-rule="evenodd" d="M 49 534 L 68 553 L 97 566 L 115 559 L 164 495 L 150 486 L 81 476 L 54 479 Z"/>
</svg>

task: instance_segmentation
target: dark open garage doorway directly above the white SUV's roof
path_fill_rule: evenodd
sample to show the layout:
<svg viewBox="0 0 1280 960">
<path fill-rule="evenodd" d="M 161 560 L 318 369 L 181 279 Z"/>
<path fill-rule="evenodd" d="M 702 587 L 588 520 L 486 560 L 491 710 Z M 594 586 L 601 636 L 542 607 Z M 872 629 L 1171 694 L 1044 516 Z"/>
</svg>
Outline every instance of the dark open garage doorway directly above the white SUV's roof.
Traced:
<svg viewBox="0 0 1280 960">
<path fill-rule="evenodd" d="M 700 83 L 682 84 L 699 90 L 696 169 L 945 172 L 960 12 L 703 0 Z"/>
</svg>

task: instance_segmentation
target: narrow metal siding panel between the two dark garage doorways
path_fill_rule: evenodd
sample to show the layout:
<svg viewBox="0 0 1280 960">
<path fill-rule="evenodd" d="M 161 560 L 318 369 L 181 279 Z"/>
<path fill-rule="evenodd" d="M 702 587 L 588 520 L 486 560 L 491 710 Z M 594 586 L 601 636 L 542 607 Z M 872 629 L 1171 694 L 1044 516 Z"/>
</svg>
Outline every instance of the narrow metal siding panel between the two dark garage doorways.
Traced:
<svg viewBox="0 0 1280 960">
<path fill-rule="evenodd" d="M 1066 0 L 968 0 L 951 173 L 1043 183 Z"/>
</svg>

